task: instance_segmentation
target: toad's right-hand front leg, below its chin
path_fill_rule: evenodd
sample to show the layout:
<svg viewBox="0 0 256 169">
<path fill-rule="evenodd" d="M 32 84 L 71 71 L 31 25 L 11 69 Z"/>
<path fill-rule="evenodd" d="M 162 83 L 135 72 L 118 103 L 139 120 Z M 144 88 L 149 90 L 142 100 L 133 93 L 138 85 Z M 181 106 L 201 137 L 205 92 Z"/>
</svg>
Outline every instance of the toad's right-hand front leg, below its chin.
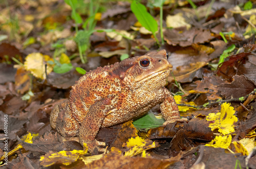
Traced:
<svg viewBox="0 0 256 169">
<path fill-rule="evenodd" d="M 161 91 L 161 96 L 163 99 L 160 103 L 160 109 L 162 116 L 165 119 L 163 126 L 176 121 L 187 121 L 185 118 L 180 119 L 178 105 L 176 104 L 173 95 L 166 88 L 163 88 Z"/>
</svg>

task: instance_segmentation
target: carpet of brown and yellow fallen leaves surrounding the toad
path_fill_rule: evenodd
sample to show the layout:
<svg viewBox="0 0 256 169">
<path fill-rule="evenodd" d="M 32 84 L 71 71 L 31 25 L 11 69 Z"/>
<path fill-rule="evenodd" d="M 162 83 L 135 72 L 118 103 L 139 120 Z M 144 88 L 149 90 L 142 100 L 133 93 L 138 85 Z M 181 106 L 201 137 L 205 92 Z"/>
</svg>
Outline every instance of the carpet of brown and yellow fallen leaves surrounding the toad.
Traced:
<svg viewBox="0 0 256 169">
<path fill-rule="evenodd" d="M 8 115 L 10 152 L 6 165 L 5 128 L 1 126 L 1 165 L 234 168 L 239 161 L 242 168 L 255 166 L 255 3 L 163 2 L 162 7 L 144 2 L 146 8 L 134 3 L 134 8 L 141 7 L 137 9 L 140 15 L 133 13 L 129 2 L 95 3 L 95 9 L 100 8 L 91 22 L 95 23 L 91 36 L 84 37 L 90 41 L 82 51 L 82 57 L 87 55 L 85 64 L 79 49 L 84 46 L 75 37 L 76 29 L 89 28 L 72 20 L 77 18 L 64 1 L 8 1 L 8 8 L 0 3 L 0 116 L 4 124 Z M 82 9 L 76 9 L 77 16 L 89 22 L 92 13 L 84 10 L 88 4 L 77 3 Z M 150 18 L 155 27 L 141 16 Z M 232 45 L 234 49 L 224 53 Z M 85 155 L 86 147 L 75 142 L 77 138 L 63 138 L 51 129 L 54 104 L 69 97 L 71 86 L 81 76 L 76 68 L 86 72 L 120 62 L 123 54 L 134 57 L 157 49 L 169 52 L 173 72 L 166 88 L 176 95 L 181 116 L 188 122 L 163 127 L 162 119 L 146 116 L 134 124 L 102 128 L 97 139 L 108 145 L 110 153 L 99 156 Z M 153 112 L 161 118 L 158 106 Z"/>
</svg>

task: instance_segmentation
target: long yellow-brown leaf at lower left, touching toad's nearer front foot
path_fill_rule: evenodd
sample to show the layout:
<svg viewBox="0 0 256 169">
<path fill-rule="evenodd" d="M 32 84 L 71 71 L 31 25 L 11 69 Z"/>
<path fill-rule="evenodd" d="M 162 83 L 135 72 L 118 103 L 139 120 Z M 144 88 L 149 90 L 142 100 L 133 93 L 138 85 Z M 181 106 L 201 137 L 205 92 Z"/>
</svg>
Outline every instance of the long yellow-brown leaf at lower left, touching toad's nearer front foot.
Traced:
<svg viewBox="0 0 256 169">
<path fill-rule="evenodd" d="M 42 166 L 50 166 L 54 163 L 62 163 L 64 165 L 69 165 L 75 162 L 79 157 L 87 154 L 88 147 L 84 143 L 83 150 L 73 150 L 73 151 L 60 151 L 58 153 L 46 154 L 40 157 Z"/>
</svg>

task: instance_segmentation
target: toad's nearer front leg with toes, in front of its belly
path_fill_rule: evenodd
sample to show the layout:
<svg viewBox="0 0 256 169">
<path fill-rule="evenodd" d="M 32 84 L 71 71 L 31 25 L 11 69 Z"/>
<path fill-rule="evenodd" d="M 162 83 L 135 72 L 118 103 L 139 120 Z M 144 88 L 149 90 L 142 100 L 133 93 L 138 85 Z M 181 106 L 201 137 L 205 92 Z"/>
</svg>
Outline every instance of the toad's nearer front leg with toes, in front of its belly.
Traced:
<svg viewBox="0 0 256 169">
<path fill-rule="evenodd" d="M 79 143 L 81 145 L 86 143 L 89 152 L 92 154 L 98 154 L 98 152 L 104 152 L 105 150 L 104 148 L 99 148 L 99 146 L 105 146 L 105 143 L 97 141 L 95 136 L 104 118 L 114 107 L 112 103 L 113 99 L 114 97 L 110 96 L 91 105 L 87 116 L 79 128 Z"/>
</svg>

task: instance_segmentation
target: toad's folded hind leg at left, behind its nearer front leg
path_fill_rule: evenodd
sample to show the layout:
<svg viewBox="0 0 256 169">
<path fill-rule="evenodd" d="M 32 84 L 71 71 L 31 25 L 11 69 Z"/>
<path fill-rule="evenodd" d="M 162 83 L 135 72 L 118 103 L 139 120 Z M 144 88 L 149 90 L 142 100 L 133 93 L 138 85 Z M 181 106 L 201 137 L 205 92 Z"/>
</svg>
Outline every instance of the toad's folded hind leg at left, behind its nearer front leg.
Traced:
<svg viewBox="0 0 256 169">
<path fill-rule="evenodd" d="M 69 104 L 63 108 L 58 115 L 56 121 L 56 129 L 60 135 L 65 137 L 74 137 L 78 135 L 80 124 L 72 116 Z"/>
</svg>

